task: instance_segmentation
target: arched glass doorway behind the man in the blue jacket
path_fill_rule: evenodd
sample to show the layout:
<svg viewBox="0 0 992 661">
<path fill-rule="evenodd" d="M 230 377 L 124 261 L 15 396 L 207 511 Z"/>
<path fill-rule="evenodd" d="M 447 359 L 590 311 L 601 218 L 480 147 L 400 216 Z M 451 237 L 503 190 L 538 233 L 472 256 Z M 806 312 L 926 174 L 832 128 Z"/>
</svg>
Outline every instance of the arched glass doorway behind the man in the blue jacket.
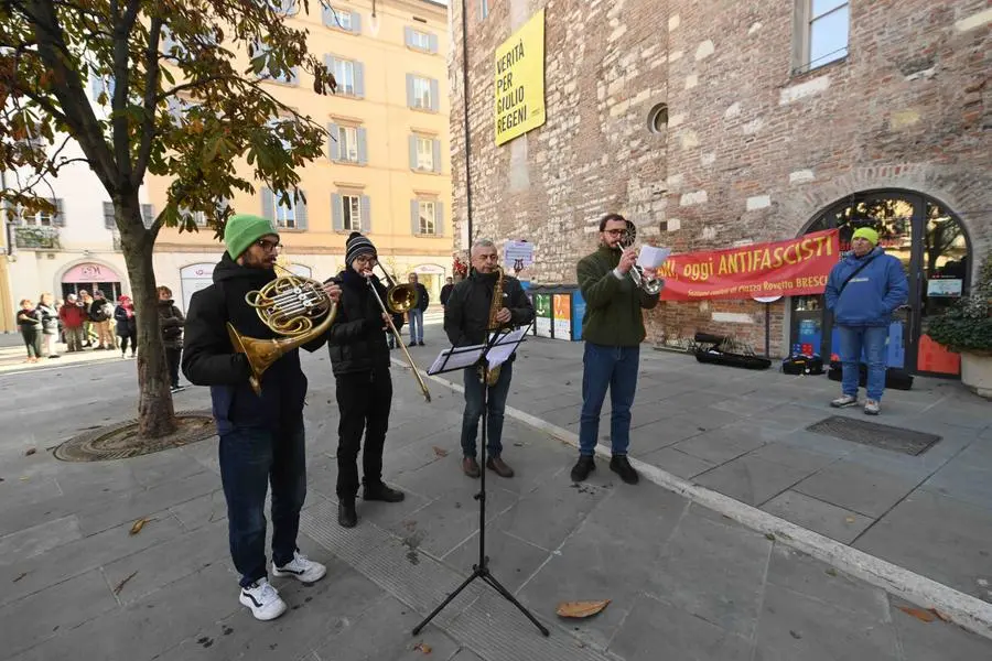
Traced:
<svg viewBox="0 0 992 661">
<path fill-rule="evenodd" d="M 889 326 L 889 368 L 910 373 L 957 377 L 960 357 L 930 340 L 929 319 L 944 314 L 968 293 L 971 248 L 953 212 L 926 195 L 898 189 L 852 195 L 818 214 L 804 234 L 840 230 L 841 250 L 850 250 L 859 227 L 878 232 L 878 243 L 903 263 L 909 300 Z M 838 340 L 822 296 L 791 299 L 790 345 L 823 356 L 837 354 Z"/>
</svg>

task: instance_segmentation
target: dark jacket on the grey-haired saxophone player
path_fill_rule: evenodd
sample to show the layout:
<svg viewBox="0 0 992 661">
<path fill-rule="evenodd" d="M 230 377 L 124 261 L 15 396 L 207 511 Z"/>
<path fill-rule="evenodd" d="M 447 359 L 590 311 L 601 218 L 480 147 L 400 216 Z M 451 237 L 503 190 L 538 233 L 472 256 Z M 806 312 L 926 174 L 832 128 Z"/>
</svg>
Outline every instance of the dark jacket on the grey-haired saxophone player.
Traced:
<svg viewBox="0 0 992 661">
<path fill-rule="evenodd" d="M 483 274 L 474 269 L 472 274 L 457 283 L 444 306 L 444 332 L 454 346 L 483 344 L 489 323 L 489 307 L 496 274 Z M 520 281 L 506 275 L 503 282 L 503 305 L 510 311 L 510 321 L 504 328 L 522 326 L 533 321 L 533 305 L 520 286 Z"/>
</svg>

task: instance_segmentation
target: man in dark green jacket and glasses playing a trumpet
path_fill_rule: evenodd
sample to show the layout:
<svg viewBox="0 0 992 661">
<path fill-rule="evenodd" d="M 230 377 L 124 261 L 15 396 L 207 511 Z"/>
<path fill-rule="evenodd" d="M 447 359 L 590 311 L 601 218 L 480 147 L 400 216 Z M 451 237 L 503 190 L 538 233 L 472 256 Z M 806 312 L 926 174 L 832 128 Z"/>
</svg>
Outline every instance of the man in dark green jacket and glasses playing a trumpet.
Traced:
<svg viewBox="0 0 992 661">
<path fill-rule="evenodd" d="M 640 343 L 647 333 L 643 310 L 658 304 L 658 294 L 638 288 L 630 277 L 637 263 L 637 251 L 624 248 L 628 221 L 619 214 L 607 214 L 600 220 L 600 247 L 583 258 L 576 269 L 579 289 L 585 299 L 582 319 L 582 418 L 579 424 L 579 462 L 572 479 L 582 481 L 595 470 L 596 437 L 600 411 L 606 390 L 613 413 L 610 441 L 613 457 L 610 469 L 625 483 L 637 484 L 637 472 L 627 459 L 630 444 L 630 405 L 637 388 Z M 654 269 L 644 269 L 645 281 L 654 279 Z"/>
</svg>

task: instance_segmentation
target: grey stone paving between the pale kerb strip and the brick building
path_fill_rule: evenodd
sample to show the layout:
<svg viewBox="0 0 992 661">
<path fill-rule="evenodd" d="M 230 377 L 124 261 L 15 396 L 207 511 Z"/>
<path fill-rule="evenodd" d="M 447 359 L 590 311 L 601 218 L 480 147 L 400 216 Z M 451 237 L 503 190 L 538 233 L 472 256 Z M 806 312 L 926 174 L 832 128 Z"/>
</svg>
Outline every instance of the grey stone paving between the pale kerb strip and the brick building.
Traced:
<svg viewBox="0 0 992 661">
<path fill-rule="evenodd" d="M 578 433 L 582 350 L 528 339 L 508 405 Z M 701 365 L 647 346 L 640 356 L 632 456 L 992 603 L 992 402 L 950 380 L 886 390 L 872 422 L 941 436 L 910 456 L 807 431 L 831 415 L 866 418 L 828 407 L 839 383 L 826 376 Z M 608 419 L 607 401 L 606 445 Z"/>
</svg>

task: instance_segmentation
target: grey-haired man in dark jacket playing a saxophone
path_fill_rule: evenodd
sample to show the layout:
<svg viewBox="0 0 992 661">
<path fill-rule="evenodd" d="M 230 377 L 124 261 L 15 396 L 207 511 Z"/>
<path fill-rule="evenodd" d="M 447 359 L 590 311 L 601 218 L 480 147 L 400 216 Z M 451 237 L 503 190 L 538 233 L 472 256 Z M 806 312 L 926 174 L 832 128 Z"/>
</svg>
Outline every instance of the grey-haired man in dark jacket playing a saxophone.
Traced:
<svg viewBox="0 0 992 661">
<path fill-rule="evenodd" d="M 484 344 L 487 330 L 521 326 L 533 321 L 533 306 L 520 282 L 506 275 L 498 267 L 496 246 L 488 239 L 472 246 L 472 271 L 468 278 L 457 283 L 444 307 L 444 332 L 454 346 Z M 488 458 L 486 468 L 500 477 L 513 477 L 514 470 L 503 459 L 503 415 L 514 373 L 511 357 L 503 364 L 495 383 L 489 384 L 487 397 Z M 465 412 L 462 415 L 462 470 L 468 477 L 478 477 L 476 458 L 476 436 L 478 421 L 483 414 L 483 389 L 475 367 L 464 370 Z"/>
</svg>

